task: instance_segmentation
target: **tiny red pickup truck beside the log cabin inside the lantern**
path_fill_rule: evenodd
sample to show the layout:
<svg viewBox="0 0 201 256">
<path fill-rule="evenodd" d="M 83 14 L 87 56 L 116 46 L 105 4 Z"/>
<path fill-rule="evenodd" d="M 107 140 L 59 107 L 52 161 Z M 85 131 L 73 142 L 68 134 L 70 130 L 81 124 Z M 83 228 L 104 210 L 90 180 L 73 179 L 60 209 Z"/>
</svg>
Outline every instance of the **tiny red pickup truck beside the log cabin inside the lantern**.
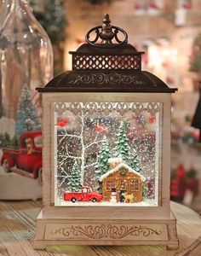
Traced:
<svg viewBox="0 0 201 256">
<path fill-rule="evenodd" d="M 101 201 L 102 195 L 93 192 L 88 186 L 83 186 L 81 192 L 64 192 L 65 201 Z"/>
</svg>

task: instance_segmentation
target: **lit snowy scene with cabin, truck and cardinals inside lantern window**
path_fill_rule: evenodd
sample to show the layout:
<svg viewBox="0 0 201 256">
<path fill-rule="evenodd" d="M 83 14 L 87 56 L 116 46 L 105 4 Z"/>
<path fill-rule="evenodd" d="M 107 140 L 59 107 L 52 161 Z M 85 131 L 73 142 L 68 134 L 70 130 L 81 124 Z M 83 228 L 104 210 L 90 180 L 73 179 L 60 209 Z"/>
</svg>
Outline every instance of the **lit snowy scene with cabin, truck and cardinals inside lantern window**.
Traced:
<svg viewBox="0 0 201 256">
<path fill-rule="evenodd" d="M 55 206 L 158 206 L 160 103 L 54 108 Z"/>
</svg>

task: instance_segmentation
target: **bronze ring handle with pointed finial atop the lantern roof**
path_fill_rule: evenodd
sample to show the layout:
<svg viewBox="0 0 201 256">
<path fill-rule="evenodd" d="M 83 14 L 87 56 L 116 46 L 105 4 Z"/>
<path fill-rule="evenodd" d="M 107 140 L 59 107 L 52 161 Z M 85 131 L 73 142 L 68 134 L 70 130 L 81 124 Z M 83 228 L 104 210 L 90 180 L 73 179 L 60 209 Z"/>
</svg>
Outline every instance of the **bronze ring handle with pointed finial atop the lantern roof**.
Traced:
<svg viewBox="0 0 201 256">
<path fill-rule="evenodd" d="M 128 43 L 128 34 L 125 32 L 122 28 L 118 26 L 112 26 L 111 20 L 109 15 L 104 16 L 103 24 L 102 26 L 95 26 L 87 32 L 85 40 L 88 44 L 93 45 L 95 47 L 99 48 L 113 48 L 113 47 L 119 47 L 123 44 Z M 95 32 L 96 36 L 94 40 L 89 40 L 90 33 Z M 118 32 L 122 32 L 124 39 L 120 40 L 118 38 Z M 101 39 L 101 44 L 95 44 L 99 38 Z M 115 38 L 115 40 L 118 42 L 118 44 L 113 44 L 112 39 Z"/>
</svg>

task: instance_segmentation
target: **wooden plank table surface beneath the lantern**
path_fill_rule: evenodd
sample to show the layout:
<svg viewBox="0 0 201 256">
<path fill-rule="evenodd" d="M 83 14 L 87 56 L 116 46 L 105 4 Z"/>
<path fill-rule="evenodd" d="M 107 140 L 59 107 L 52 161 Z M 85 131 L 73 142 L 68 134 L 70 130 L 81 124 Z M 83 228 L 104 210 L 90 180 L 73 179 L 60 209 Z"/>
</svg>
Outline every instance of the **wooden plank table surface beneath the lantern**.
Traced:
<svg viewBox="0 0 201 256">
<path fill-rule="evenodd" d="M 63 246 L 48 247 L 45 251 L 34 251 L 36 218 L 41 201 L 0 201 L 0 255 L 68 255 L 68 256 L 164 256 L 201 255 L 201 218 L 191 209 L 171 202 L 177 218 L 180 247 L 177 251 L 166 251 L 161 246 Z"/>
</svg>

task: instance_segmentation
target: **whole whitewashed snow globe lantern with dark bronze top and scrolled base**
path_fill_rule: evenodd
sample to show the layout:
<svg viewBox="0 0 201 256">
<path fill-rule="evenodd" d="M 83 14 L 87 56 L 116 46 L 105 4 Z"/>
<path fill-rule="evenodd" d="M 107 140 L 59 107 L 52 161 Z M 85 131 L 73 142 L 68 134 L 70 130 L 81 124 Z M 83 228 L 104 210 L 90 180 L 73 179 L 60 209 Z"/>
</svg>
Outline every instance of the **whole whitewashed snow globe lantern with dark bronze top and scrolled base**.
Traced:
<svg viewBox="0 0 201 256">
<path fill-rule="evenodd" d="M 95 38 L 89 35 L 95 32 Z M 123 35 L 123 39 L 119 35 Z M 169 208 L 170 89 L 141 71 L 127 33 L 102 26 L 44 88 L 43 210 L 35 248 L 178 247 Z"/>
</svg>

